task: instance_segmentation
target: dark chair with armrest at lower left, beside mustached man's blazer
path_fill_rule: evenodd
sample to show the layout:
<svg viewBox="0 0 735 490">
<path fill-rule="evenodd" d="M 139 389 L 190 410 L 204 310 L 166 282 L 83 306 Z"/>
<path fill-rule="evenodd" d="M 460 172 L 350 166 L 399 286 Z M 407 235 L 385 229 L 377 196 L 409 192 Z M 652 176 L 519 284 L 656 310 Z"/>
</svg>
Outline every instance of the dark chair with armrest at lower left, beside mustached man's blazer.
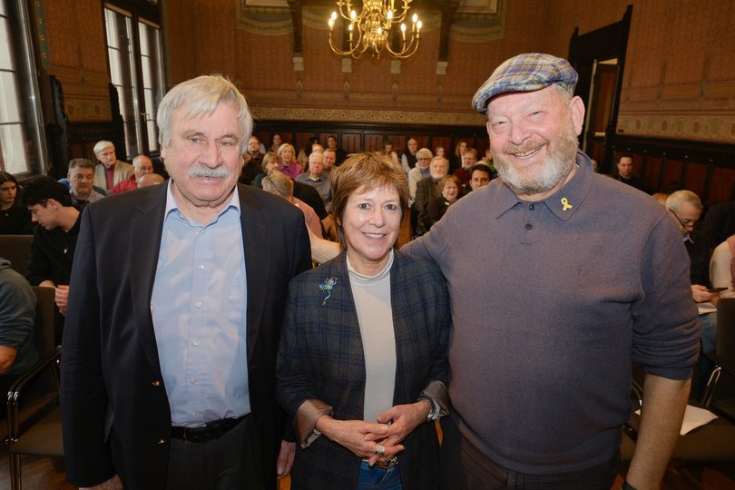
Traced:
<svg viewBox="0 0 735 490">
<path fill-rule="evenodd" d="M 13 490 L 22 488 L 21 455 L 64 456 L 59 407 L 61 348 L 54 343 L 54 289 L 34 287 L 34 343 L 40 360 L 7 394 L 8 456 Z"/>
</svg>

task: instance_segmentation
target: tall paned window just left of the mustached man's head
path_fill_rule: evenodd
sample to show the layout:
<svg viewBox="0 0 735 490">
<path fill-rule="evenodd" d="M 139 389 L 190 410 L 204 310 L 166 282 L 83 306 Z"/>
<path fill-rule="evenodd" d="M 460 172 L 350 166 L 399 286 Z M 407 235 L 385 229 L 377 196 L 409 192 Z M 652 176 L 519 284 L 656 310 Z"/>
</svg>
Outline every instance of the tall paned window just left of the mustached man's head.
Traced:
<svg viewBox="0 0 735 490">
<path fill-rule="evenodd" d="M 104 8 L 110 76 L 117 88 L 128 158 L 158 152 L 155 114 L 164 91 L 160 27 L 119 6 Z"/>
</svg>

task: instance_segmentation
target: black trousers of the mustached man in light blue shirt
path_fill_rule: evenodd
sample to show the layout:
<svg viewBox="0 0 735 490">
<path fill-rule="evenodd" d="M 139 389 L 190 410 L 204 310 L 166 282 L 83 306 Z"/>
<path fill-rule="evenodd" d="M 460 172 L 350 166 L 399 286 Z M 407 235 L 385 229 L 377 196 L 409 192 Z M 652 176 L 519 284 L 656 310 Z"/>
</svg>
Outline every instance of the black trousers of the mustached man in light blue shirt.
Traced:
<svg viewBox="0 0 735 490">
<path fill-rule="evenodd" d="M 260 441 L 253 417 L 204 443 L 171 439 L 166 488 L 260 490 L 265 488 Z M 272 468 L 275 475 L 276 468 Z"/>
</svg>

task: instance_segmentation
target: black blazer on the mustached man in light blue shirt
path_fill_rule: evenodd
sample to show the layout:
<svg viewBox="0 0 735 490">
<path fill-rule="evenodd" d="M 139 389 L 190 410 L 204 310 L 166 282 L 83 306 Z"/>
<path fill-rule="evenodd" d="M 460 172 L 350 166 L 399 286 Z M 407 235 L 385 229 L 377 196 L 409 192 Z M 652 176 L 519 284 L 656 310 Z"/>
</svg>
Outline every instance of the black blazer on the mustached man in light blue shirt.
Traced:
<svg viewBox="0 0 735 490">
<path fill-rule="evenodd" d="M 165 487 L 171 409 L 150 305 L 166 189 L 107 197 L 83 212 L 62 361 L 64 456 L 74 485 L 117 473 L 125 488 Z M 248 186 L 238 190 L 250 417 L 262 438 L 264 481 L 275 488 L 284 423 L 275 399 L 276 352 L 289 280 L 310 267 L 309 238 L 303 214 L 289 202 Z"/>
</svg>

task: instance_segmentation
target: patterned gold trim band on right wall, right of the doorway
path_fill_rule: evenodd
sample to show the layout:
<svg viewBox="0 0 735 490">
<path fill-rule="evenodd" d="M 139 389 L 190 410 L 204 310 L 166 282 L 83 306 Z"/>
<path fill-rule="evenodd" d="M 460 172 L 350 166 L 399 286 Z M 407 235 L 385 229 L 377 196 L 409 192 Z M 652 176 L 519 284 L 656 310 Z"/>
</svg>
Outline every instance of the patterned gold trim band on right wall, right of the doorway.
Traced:
<svg viewBox="0 0 735 490">
<path fill-rule="evenodd" d="M 732 142 L 735 114 L 624 114 L 618 116 L 618 132 L 658 138 Z"/>
</svg>

